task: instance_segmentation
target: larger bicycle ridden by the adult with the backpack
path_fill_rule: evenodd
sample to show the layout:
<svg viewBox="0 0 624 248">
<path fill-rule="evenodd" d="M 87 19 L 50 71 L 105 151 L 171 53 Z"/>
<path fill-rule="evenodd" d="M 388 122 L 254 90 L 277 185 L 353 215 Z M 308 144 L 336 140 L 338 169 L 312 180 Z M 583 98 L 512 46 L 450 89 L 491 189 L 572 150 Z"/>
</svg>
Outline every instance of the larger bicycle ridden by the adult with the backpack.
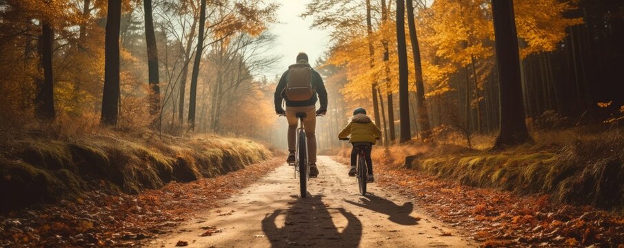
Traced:
<svg viewBox="0 0 624 248">
<path fill-rule="evenodd" d="M 285 114 L 279 114 L 279 116 L 286 116 Z M 301 189 L 301 198 L 305 198 L 308 193 L 308 180 L 310 180 L 310 163 L 308 163 L 308 143 L 305 138 L 305 130 L 303 129 L 303 118 L 305 113 L 294 114 L 299 119 L 299 127 L 297 127 L 296 133 L 296 151 L 294 163 L 288 163 L 288 165 L 294 166 L 294 177 L 299 174 L 299 189 Z M 323 114 L 316 114 L 316 116 L 325 116 Z M 303 152 L 301 152 L 303 151 Z"/>
</svg>

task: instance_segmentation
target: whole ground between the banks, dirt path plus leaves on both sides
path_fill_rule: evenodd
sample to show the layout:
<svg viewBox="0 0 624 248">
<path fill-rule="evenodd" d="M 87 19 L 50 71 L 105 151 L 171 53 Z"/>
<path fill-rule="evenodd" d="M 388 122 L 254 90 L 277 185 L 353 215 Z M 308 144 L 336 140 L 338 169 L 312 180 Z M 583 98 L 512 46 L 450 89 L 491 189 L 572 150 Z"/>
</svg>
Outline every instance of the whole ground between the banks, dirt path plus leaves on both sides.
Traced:
<svg viewBox="0 0 624 248">
<path fill-rule="evenodd" d="M 466 187 L 392 165 L 376 165 L 377 182 L 363 197 L 354 178 L 346 176 L 341 157 L 319 156 L 321 177 L 310 180 L 308 198 L 299 198 L 293 169 L 282 159 L 137 195 L 95 191 L 75 201 L 15 211 L 0 216 L 0 246 L 623 244 L 624 218 L 613 212 Z"/>
</svg>

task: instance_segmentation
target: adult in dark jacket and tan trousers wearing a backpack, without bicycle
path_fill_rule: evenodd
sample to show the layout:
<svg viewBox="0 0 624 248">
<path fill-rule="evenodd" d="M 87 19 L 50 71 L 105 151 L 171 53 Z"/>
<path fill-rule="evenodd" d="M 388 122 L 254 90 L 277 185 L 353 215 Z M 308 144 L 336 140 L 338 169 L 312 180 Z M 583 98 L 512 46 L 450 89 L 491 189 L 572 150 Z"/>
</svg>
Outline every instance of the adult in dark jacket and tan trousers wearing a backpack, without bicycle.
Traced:
<svg viewBox="0 0 624 248">
<path fill-rule="evenodd" d="M 286 110 L 282 108 L 282 101 L 286 102 Z M 276 114 L 285 114 L 288 120 L 288 163 L 295 161 L 296 151 L 296 113 L 305 113 L 303 129 L 308 147 L 308 162 L 310 163 L 310 177 L 319 175 L 316 167 L 316 114 L 327 112 L 327 91 L 323 84 L 321 74 L 316 72 L 308 63 L 308 54 L 299 52 L 296 63 L 290 65 L 281 78 L 274 94 Z M 316 101 L 320 101 L 321 107 L 316 110 Z"/>
</svg>

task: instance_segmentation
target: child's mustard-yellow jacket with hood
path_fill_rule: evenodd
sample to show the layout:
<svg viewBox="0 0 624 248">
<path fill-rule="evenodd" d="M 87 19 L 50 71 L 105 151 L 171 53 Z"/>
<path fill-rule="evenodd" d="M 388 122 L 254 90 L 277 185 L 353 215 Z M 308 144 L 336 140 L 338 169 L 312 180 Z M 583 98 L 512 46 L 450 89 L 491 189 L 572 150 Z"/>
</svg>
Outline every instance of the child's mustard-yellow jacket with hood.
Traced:
<svg viewBox="0 0 624 248">
<path fill-rule="evenodd" d="M 376 143 L 375 138 L 381 137 L 379 127 L 370 121 L 370 117 L 365 114 L 356 114 L 351 118 L 347 126 L 338 134 L 338 138 L 347 138 L 351 135 L 349 143 L 370 142 Z"/>
</svg>

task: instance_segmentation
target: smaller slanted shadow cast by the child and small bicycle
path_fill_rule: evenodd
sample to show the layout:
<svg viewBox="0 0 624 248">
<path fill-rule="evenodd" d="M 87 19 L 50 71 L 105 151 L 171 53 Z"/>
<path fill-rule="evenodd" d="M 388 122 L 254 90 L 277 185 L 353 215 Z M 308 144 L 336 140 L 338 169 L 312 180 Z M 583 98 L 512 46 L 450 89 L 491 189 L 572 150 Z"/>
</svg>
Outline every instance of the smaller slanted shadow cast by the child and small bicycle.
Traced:
<svg viewBox="0 0 624 248">
<path fill-rule="evenodd" d="M 375 196 L 374 194 L 367 194 L 361 198 L 363 203 L 356 203 L 352 200 L 345 200 L 345 202 L 365 209 L 376 211 L 380 214 L 388 216 L 388 220 L 399 225 L 416 225 L 419 218 L 410 216 L 412 210 L 414 210 L 414 203 L 407 202 L 399 206 L 392 200 Z"/>
</svg>

